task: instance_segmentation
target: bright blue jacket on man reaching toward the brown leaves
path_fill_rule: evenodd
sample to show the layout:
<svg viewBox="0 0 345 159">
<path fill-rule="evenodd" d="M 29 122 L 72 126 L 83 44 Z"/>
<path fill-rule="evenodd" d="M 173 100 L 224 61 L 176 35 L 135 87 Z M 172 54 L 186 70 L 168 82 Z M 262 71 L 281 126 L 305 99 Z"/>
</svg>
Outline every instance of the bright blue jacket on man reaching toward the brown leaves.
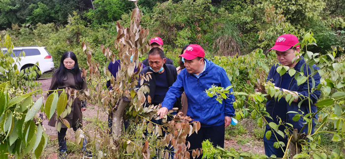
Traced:
<svg viewBox="0 0 345 159">
<path fill-rule="evenodd" d="M 182 69 L 177 75 L 176 82 L 169 88 L 162 106 L 172 109 L 173 103 L 184 91 L 188 100 L 188 116 L 199 121 L 202 127 L 220 126 L 224 124 L 224 116 L 234 116 L 235 96 L 229 95 L 229 98 L 223 100 L 223 104 L 219 103 L 215 96 L 207 96 L 205 90 L 212 85 L 226 88 L 231 83 L 222 67 L 207 59 L 205 59 L 205 63 L 206 69 L 201 73 L 199 79 L 188 73 L 186 69 Z M 233 90 L 230 89 L 230 91 Z"/>
</svg>

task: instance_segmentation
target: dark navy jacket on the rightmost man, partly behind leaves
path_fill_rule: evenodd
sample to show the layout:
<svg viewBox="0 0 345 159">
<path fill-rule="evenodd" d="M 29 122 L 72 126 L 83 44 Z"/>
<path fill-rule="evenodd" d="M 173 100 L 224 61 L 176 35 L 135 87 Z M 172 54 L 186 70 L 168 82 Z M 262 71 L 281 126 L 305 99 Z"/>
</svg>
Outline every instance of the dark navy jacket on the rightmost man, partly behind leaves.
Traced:
<svg viewBox="0 0 345 159">
<path fill-rule="evenodd" d="M 295 70 L 297 72 L 301 71 L 301 67 L 303 66 L 303 71 L 304 74 L 307 75 L 307 71 L 309 72 L 309 74 L 311 74 L 311 69 L 308 65 L 305 64 L 305 60 L 303 57 L 301 57 L 302 59 L 295 65 Z M 272 80 L 272 83 L 275 83 L 276 87 L 280 88 L 281 85 L 281 76 L 279 75 L 279 73 L 276 71 L 276 68 L 278 67 L 278 64 L 275 64 L 271 67 L 270 72 L 268 74 L 267 80 Z M 308 67 L 308 69 L 307 69 Z M 312 68 L 315 70 L 315 74 L 313 75 L 313 79 L 315 81 L 315 87 L 317 87 L 317 85 L 320 83 L 320 75 L 317 72 L 317 70 L 319 70 L 320 68 L 317 67 L 315 64 L 312 65 Z M 309 87 L 310 89 L 312 88 L 312 79 L 309 78 Z M 316 113 L 316 106 L 314 105 L 317 101 L 317 99 L 320 97 L 320 91 L 319 90 L 315 90 L 313 92 L 311 92 L 310 97 L 311 97 L 311 112 L 309 110 L 309 100 L 308 100 L 308 81 L 306 81 L 305 83 L 301 84 L 301 85 L 297 85 L 297 81 L 295 78 L 292 78 L 290 84 L 289 84 L 289 89 L 287 89 L 289 91 L 294 91 L 294 92 L 298 92 L 299 95 L 303 95 L 303 96 L 307 96 L 307 98 L 304 97 L 299 97 L 297 102 L 292 102 L 291 105 L 289 105 L 288 102 L 284 102 L 286 105 L 286 112 L 289 111 L 295 111 L 298 112 L 299 114 L 302 114 L 301 111 L 304 112 L 304 115 L 308 114 L 308 113 Z M 298 107 L 298 103 L 300 101 L 302 101 L 303 99 L 305 99 L 302 104 L 301 107 Z M 285 101 L 284 98 L 281 98 L 280 100 Z M 279 101 L 280 101 L 279 100 Z M 268 100 L 266 103 L 266 111 L 270 114 L 270 116 L 272 118 L 275 119 L 275 117 L 273 117 L 273 110 L 275 107 L 276 100 L 275 98 L 272 98 L 271 100 Z M 306 121 L 303 120 L 303 118 L 301 117 L 299 121 L 295 122 L 292 120 L 292 118 L 295 116 L 296 113 L 287 113 L 286 114 L 286 123 L 290 123 L 293 125 L 293 128 L 297 128 L 298 131 L 300 131 L 302 129 L 302 127 L 304 126 L 303 123 L 306 123 Z M 315 116 L 316 118 L 316 116 Z M 268 120 L 268 122 L 273 122 L 272 119 L 266 118 L 266 120 Z M 274 121 L 276 122 L 276 121 Z M 315 123 L 313 121 L 312 127 L 315 126 Z M 266 125 L 266 128 L 269 128 L 268 125 Z M 307 133 L 308 132 L 308 127 L 306 126 L 302 132 Z"/>
</svg>

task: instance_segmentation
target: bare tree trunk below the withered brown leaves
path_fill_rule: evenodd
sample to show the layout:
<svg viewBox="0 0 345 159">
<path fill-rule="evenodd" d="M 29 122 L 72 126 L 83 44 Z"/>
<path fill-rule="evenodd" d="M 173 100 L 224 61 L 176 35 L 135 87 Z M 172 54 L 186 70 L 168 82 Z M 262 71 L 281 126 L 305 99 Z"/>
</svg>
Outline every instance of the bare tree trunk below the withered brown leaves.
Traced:
<svg viewBox="0 0 345 159">
<path fill-rule="evenodd" d="M 112 138 L 115 143 L 120 139 L 120 136 L 123 131 L 123 115 L 124 111 L 128 105 L 130 100 L 123 96 L 118 105 L 115 106 L 113 110 L 113 117 L 112 117 Z"/>
</svg>

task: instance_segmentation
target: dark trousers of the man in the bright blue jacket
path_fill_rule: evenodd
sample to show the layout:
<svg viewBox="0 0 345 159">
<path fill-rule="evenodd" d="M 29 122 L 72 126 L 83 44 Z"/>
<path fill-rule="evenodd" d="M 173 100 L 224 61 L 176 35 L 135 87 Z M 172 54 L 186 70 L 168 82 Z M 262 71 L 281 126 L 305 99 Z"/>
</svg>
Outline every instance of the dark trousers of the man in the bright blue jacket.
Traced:
<svg viewBox="0 0 345 159">
<path fill-rule="evenodd" d="M 224 135 L 225 135 L 225 127 L 224 124 L 215 127 L 201 127 L 197 133 L 193 133 L 189 137 L 187 136 L 187 141 L 190 143 L 190 148 L 188 150 L 202 148 L 202 143 L 205 140 L 209 140 L 212 142 L 214 147 L 219 146 L 224 148 Z M 188 151 L 187 150 L 187 151 Z M 192 152 L 190 151 L 190 159 L 193 159 Z M 203 154 L 196 159 L 202 159 Z"/>
</svg>

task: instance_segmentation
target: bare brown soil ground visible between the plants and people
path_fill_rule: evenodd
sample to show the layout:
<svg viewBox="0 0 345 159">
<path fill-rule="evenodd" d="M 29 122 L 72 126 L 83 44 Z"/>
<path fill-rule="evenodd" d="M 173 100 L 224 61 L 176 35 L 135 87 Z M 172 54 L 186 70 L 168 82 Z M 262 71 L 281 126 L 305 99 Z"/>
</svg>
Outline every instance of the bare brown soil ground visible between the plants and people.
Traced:
<svg viewBox="0 0 345 159">
<path fill-rule="evenodd" d="M 47 91 L 50 87 L 51 78 L 44 78 L 39 79 L 38 82 L 42 83 L 42 90 Z M 90 122 L 93 121 L 93 119 L 97 118 L 97 110 L 98 107 L 96 105 L 92 105 L 90 103 L 87 104 L 87 110 L 83 112 L 83 125 L 84 127 L 87 127 Z M 99 120 L 100 121 L 107 121 L 107 114 L 100 111 L 99 112 Z M 58 133 L 55 127 L 48 126 L 48 120 L 43 120 L 43 127 L 45 129 L 45 133 L 49 136 L 49 141 L 47 148 L 45 149 L 45 152 L 43 152 L 41 158 L 43 159 L 57 159 L 57 152 L 58 152 Z M 92 129 L 85 128 L 85 131 L 90 134 L 94 134 L 95 132 Z M 74 132 L 69 131 L 70 138 L 69 142 L 72 143 L 74 141 Z M 92 135 L 91 135 L 92 136 Z M 238 137 L 248 137 L 248 136 L 238 136 Z M 249 141 L 245 144 L 239 144 L 239 139 L 236 139 L 235 137 L 232 137 L 231 140 L 225 140 L 225 148 L 235 148 L 236 150 L 241 150 L 243 152 L 249 152 L 253 154 L 265 154 L 264 147 L 263 147 L 263 141 L 255 140 Z M 72 144 L 69 144 L 68 146 L 73 146 Z M 81 154 L 74 153 L 69 154 L 69 159 L 80 159 L 82 157 Z"/>
</svg>

